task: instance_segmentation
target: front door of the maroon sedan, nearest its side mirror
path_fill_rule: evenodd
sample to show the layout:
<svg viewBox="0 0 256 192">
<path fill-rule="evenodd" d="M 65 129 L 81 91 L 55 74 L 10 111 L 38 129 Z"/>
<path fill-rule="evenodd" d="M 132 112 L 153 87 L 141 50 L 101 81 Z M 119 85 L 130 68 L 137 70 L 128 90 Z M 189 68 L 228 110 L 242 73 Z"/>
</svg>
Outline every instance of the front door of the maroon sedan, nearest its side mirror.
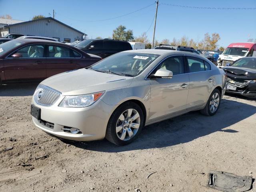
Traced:
<svg viewBox="0 0 256 192">
<path fill-rule="evenodd" d="M 26 80 L 46 78 L 45 45 L 32 44 L 18 49 L 21 58 L 8 56 L 4 59 L 4 73 L 6 80 Z"/>
</svg>

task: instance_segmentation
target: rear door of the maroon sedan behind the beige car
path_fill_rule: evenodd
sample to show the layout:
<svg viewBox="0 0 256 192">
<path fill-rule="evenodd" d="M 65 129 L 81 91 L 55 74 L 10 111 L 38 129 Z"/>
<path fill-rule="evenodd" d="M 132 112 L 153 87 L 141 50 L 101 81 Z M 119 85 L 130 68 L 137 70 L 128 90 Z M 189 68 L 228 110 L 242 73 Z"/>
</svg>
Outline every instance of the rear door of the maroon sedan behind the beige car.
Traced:
<svg viewBox="0 0 256 192">
<path fill-rule="evenodd" d="M 59 45 L 47 46 L 46 77 L 62 72 L 86 67 L 82 55 L 68 47 Z"/>
</svg>

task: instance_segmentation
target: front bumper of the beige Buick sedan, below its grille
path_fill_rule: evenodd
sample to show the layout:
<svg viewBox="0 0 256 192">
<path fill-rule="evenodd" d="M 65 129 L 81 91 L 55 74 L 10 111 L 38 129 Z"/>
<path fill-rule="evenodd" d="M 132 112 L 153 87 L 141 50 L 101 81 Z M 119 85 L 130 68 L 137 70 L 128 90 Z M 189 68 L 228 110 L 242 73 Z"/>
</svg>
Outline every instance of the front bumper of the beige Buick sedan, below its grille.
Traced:
<svg viewBox="0 0 256 192">
<path fill-rule="evenodd" d="M 59 107 L 61 96 L 52 106 L 32 104 L 41 109 L 40 119 L 32 117 L 34 124 L 49 134 L 76 141 L 100 140 L 105 137 L 108 120 L 114 109 L 113 105 L 104 103 L 101 99 L 84 108 Z M 42 123 L 44 122 L 44 123 Z M 49 126 L 50 125 L 50 126 Z M 82 133 L 72 134 L 63 128 L 78 128 Z"/>
</svg>

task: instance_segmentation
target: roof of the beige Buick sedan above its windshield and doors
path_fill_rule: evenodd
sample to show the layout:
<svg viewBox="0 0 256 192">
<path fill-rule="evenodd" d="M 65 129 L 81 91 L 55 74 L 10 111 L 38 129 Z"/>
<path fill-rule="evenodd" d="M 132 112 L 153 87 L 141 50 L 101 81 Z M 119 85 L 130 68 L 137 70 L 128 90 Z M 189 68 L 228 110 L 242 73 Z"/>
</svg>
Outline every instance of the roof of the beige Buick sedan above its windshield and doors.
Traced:
<svg viewBox="0 0 256 192">
<path fill-rule="evenodd" d="M 206 59 L 203 56 L 200 56 L 199 54 L 186 52 L 186 51 L 174 51 L 174 50 L 166 50 L 166 49 L 137 49 L 137 50 L 127 50 L 123 52 L 130 52 L 130 53 L 148 53 L 148 54 L 158 54 L 158 55 L 177 55 L 177 54 L 184 54 L 189 56 L 196 56 L 202 59 Z"/>
</svg>

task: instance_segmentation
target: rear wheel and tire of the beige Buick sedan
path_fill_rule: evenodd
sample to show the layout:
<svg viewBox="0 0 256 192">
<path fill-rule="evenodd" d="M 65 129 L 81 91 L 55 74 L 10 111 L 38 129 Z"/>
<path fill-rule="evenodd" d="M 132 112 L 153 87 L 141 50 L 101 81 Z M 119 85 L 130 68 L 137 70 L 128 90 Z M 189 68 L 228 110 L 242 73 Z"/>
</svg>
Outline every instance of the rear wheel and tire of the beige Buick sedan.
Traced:
<svg viewBox="0 0 256 192">
<path fill-rule="evenodd" d="M 212 116 L 216 114 L 216 112 L 220 108 L 220 99 L 220 91 L 218 89 L 214 89 L 206 103 L 206 106 L 202 110 L 200 110 L 200 112 L 206 116 Z"/>
</svg>

